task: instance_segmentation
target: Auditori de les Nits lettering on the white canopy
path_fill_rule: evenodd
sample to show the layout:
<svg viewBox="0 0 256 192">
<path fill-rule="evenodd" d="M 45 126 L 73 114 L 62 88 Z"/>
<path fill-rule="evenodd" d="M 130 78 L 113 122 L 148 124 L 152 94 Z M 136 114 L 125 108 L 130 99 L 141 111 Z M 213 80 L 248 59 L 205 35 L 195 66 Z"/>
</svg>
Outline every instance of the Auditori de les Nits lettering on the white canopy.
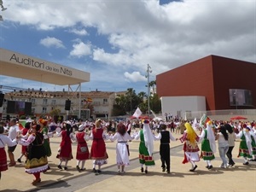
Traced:
<svg viewBox="0 0 256 192">
<path fill-rule="evenodd" d="M 10 55 L 9 61 L 15 64 L 25 65 L 26 67 L 33 67 L 39 70 L 45 70 L 52 73 L 60 73 L 68 75 L 70 77 L 73 76 L 73 71 L 70 68 L 63 67 L 61 65 L 57 65 L 54 63 L 39 61 L 30 57 L 24 57 L 22 55 L 18 55 L 15 53 Z"/>
</svg>

